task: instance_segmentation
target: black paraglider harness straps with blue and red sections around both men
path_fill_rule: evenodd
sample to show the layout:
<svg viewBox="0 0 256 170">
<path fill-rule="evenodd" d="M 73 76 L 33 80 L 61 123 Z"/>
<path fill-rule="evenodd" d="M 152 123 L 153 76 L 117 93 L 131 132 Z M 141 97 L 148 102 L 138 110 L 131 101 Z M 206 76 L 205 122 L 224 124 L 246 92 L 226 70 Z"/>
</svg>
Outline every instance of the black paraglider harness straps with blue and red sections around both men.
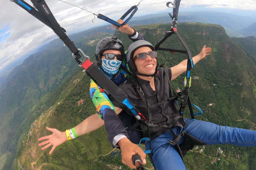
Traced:
<svg viewBox="0 0 256 170">
<path fill-rule="evenodd" d="M 188 57 L 186 77 L 184 79 L 185 89 L 179 93 L 176 93 L 174 88 L 171 86 L 172 91 L 174 93 L 173 96 L 171 97 L 171 99 L 173 99 L 173 100 L 180 99 L 181 100 L 180 116 L 176 116 L 174 121 L 181 122 L 181 124 L 183 125 L 183 131 L 181 132 L 181 134 L 176 136 L 175 133 L 171 129 L 172 127 L 166 126 L 166 128 L 171 130 L 173 139 L 174 139 L 173 141 L 169 141 L 169 143 L 172 145 L 175 145 L 178 148 L 181 158 L 183 160 L 183 156 L 189 149 L 191 149 L 193 147 L 193 145 L 205 145 L 205 144 L 197 139 L 193 139 L 193 136 L 189 136 L 185 132 L 185 128 L 184 128 L 186 125 L 186 122 L 183 121 L 183 114 L 184 114 L 186 105 L 188 105 L 188 107 L 189 107 L 191 118 L 194 118 L 194 113 L 192 110 L 193 104 L 191 104 L 189 95 L 188 95 L 189 87 L 191 86 L 190 69 L 193 68 L 194 65 L 193 65 L 193 60 L 192 60 L 191 53 L 190 53 L 188 47 L 185 45 L 185 42 L 181 39 L 181 36 L 177 32 L 177 19 L 178 19 L 178 10 L 179 10 L 179 6 L 180 6 L 180 1 L 181 0 L 175 0 L 174 3 L 168 2 L 166 4 L 168 7 L 170 7 L 169 6 L 170 4 L 173 5 L 173 7 L 170 7 L 170 8 L 173 8 L 173 15 L 171 15 L 169 13 L 170 17 L 172 18 L 172 28 L 170 29 L 170 31 L 166 32 L 166 35 L 157 43 L 157 45 L 155 46 L 155 49 L 163 50 L 163 51 L 170 51 L 170 52 L 184 53 L 184 54 L 187 54 L 187 57 Z M 52 14 L 51 10 L 49 9 L 49 7 L 47 6 L 45 0 L 31 0 L 33 7 L 31 5 L 29 5 L 28 3 L 26 3 L 24 0 L 11 0 L 11 2 L 16 3 L 18 6 L 25 9 L 27 12 L 29 12 L 31 15 L 33 15 L 35 18 L 37 18 L 39 21 L 41 21 L 42 23 L 44 23 L 48 27 L 50 27 L 54 31 L 54 33 L 56 33 L 56 35 L 61 39 L 61 41 L 64 42 L 64 46 L 67 46 L 70 49 L 70 51 L 73 53 L 73 58 L 75 59 L 75 61 L 77 62 L 77 64 L 80 67 L 82 67 L 84 70 L 86 70 L 87 75 L 89 75 L 90 78 L 92 78 L 98 86 L 107 90 L 109 92 L 109 94 L 112 95 L 112 97 L 114 97 L 117 101 L 119 101 L 120 103 L 122 103 L 123 105 L 125 105 L 128 108 L 129 114 L 135 116 L 137 121 L 133 126 L 126 128 L 127 130 L 133 131 L 141 123 L 143 123 L 149 127 L 150 126 L 161 126 L 161 125 L 153 125 L 153 124 L 150 124 L 150 122 L 147 122 L 146 118 L 141 113 L 139 113 L 139 111 L 134 107 L 134 104 L 131 101 L 129 101 L 129 99 L 127 98 L 127 95 L 114 82 L 112 82 L 102 71 L 100 71 L 99 68 L 93 64 L 93 62 L 90 61 L 89 56 L 85 55 L 81 49 L 78 49 L 75 47 L 74 42 L 71 41 L 71 39 L 69 39 L 68 35 L 66 34 L 66 30 L 64 28 L 62 28 L 58 24 L 56 19 L 54 18 L 53 14 Z M 128 23 L 128 21 L 132 18 L 132 16 L 138 10 L 137 6 L 131 7 L 121 17 L 121 19 L 124 19 L 125 17 L 128 16 L 129 13 L 132 12 L 131 15 L 127 18 L 127 20 L 125 20 L 125 22 L 122 24 L 119 24 L 116 21 L 111 20 L 110 18 L 108 18 L 102 14 L 98 14 L 97 17 L 102 20 L 105 20 L 111 24 L 116 25 L 117 27 L 120 27 L 121 25 Z M 160 45 L 168 37 L 170 37 L 173 34 L 177 35 L 177 37 L 181 41 L 182 45 L 184 46 L 185 50 L 176 50 L 176 49 L 168 49 L 168 48 L 160 47 Z M 82 56 L 86 59 L 83 63 L 80 60 L 80 58 Z M 144 95 L 142 94 L 142 91 L 138 90 L 138 93 L 139 93 L 140 97 L 142 98 L 142 100 L 146 100 Z M 202 110 L 200 111 L 200 113 L 196 113 L 196 114 L 202 114 Z M 182 136 L 184 136 L 183 143 L 179 146 L 178 142 Z M 148 138 L 142 138 L 141 141 L 143 141 L 143 140 L 150 141 L 150 139 L 148 139 Z M 145 153 L 150 153 L 150 152 L 151 152 L 150 150 L 145 151 Z M 153 162 L 153 160 L 152 160 L 152 162 Z"/>
</svg>

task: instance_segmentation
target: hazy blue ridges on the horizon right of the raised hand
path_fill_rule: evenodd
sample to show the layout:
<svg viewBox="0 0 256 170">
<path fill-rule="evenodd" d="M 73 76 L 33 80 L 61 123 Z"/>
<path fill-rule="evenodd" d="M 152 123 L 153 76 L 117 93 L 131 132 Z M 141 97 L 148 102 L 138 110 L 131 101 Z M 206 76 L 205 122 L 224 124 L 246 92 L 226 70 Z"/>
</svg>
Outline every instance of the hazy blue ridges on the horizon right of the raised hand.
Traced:
<svg viewBox="0 0 256 170">
<path fill-rule="evenodd" d="M 214 11 L 198 11 L 198 12 L 183 12 L 179 11 L 178 16 L 179 23 L 216 23 L 222 25 L 229 37 L 242 37 L 252 36 L 255 34 L 255 18 L 244 17 L 241 15 L 234 15 L 225 12 Z M 241 27 L 241 21 L 243 25 Z M 135 17 L 129 22 L 130 25 L 146 25 L 152 23 L 171 23 L 170 16 L 165 14 L 152 14 L 141 17 Z M 247 28 L 248 27 L 248 28 Z M 238 30 L 238 29 L 242 29 Z M 244 31 L 244 29 L 246 31 Z M 251 32 L 253 34 L 251 34 Z M 248 33 L 248 34 L 247 34 Z"/>
</svg>

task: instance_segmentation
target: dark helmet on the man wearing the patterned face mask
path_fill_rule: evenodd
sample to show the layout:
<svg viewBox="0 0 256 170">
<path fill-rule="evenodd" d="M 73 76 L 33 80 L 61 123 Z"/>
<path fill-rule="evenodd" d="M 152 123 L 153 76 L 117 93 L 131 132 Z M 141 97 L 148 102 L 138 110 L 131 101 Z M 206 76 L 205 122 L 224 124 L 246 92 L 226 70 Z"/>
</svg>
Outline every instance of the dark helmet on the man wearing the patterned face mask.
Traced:
<svg viewBox="0 0 256 170">
<path fill-rule="evenodd" d="M 107 50 L 118 50 L 121 52 L 121 55 L 124 55 L 122 41 L 117 39 L 117 37 L 105 37 L 104 39 L 101 39 L 96 46 L 95 56 L 99 66 L 101 66 L 101 55 Z"/>
</svg>

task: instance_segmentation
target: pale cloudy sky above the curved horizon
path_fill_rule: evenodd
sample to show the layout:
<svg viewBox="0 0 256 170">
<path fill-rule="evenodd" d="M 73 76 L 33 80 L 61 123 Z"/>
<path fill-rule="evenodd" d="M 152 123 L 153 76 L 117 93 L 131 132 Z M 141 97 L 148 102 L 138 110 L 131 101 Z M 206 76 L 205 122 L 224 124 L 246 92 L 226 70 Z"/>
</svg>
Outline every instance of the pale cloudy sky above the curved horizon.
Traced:
<svg viewBox="0 0 256 170">
<path fill-rule="evenodd" d="M 5 66 L 35 50 L 41 45 L 56 39 L 53 31 L 35 19 L 24 9 L 10 0 L 1 0 L 0 10 L 0 70 Z M 117 20 L 131 6 L 140 0 L 64 0 L 76 6 L 90 10 L 96 14 L 101 13 Z M 173 0 L 172 0 L 173 1 Z M 32 3 L 27 0 L 29 4 Z M 87 28 L 105 24 L 95 19 L 93 14 L 73 7 L 58 0 L 46 0 L 59 24 L 69 34 Z M 135 16 L 158 13 L 168 9 L 167 0 L 143 0 Z M 256 0 L 181 0 L 182 8 L 204 6 L 205 8 L 244 9 L 256 11 Z"/>
</svg>

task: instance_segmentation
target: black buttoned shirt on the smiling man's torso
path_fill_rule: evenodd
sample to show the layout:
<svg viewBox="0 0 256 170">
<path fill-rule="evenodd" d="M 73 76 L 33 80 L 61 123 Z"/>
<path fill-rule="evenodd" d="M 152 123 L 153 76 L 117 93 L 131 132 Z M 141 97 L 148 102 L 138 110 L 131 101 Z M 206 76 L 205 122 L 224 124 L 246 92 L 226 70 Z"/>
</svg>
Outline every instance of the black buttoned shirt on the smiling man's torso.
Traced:
<svg viewBox="0 0 256 170">
<path fill-rule="evenodd" d="M 165 75 L 163 69 L 166 69 L 169 75 Z M 179 110 L 175 105 L 174 100 L 170 100 L 171 98 L 171 87 L 170 87 L 170 79 L 171 79 L 171 70 L 170 68 L 158 68 L 157 75 L 155 78 L 155 87 L 156 91 L 154 91 L 149 81 L 145 81 L 137 78 L 137 84 L 135 81 L 128 81 L 127 83 L 120 86 L 120 88 L 127 94 L 128 99 L 135 104 L 135 107 L 139 110 L 139 112 L 146 117 L 147 121 L 150 120 L 152 124 L 160 124 L 170 126 L 174 117 L 179 116 Z M 136 88 L 141 88 L 145 98 L 149 102 L 150 108 L 148 107 L 148 103 L 143 101 L 138 94 L 138 90 Z M 115 105 L 115 102 L 114 102 Z M 149 117 L 149 109 L 151 109 L 151 116 Z M 181 126 L 179 122 L 176 122 L 174 126 Z M 141 129 L 147 129 L 145 125 L 141 125 Z M 166 128 L 163 127 L 150 127 L 150 136 L 151 139 L 155 138 L 167 131 Z M 148 131 L 142 131 L 143 137 L 149 137 Z"/>
</svg>

